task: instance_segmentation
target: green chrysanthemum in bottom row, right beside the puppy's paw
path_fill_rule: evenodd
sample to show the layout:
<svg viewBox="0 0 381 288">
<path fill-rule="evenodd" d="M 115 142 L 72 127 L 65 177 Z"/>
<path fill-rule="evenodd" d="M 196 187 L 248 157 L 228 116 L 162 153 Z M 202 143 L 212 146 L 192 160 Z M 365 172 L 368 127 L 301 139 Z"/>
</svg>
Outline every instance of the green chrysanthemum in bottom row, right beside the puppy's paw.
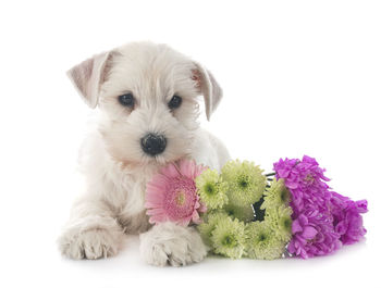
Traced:
<svg viewBox="0 0 381 288">
<path fill-rule="evenodd" d="M 245 251 L 245 224 L 237 220 L 221 218 L 211 233 L 214 252 L 238 259 Z"/>
</svg>

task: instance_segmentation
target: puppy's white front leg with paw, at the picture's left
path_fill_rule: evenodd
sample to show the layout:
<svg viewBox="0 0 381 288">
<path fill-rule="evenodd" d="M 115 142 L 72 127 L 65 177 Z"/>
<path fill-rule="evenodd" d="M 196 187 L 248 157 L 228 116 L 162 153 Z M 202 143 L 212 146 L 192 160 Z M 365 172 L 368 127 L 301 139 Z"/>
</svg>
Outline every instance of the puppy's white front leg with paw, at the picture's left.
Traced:
<svg viewBox="0 0 381 288">
<path fill-rule="evenodd" d="M 106 202 L 85 197 L 72 210 L 59 247 L 72 259 L 98 259 L 116 254 L 123 230 Z"/>
</svg>

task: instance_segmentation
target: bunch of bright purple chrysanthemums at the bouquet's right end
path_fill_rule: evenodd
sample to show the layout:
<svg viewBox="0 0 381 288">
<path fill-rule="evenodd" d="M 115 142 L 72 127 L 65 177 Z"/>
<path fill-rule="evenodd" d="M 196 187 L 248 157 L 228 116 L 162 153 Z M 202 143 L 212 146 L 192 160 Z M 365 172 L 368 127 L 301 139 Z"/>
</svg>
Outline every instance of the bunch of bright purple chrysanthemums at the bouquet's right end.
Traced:
<svg viewBox="0 0 381 288">
<path fill-rule="evenodd" d="M 292 254 L 304 259 L 330 254 L 365 235 L 359 213 L 367 211 L 366 201 L 354 202 L 330 191 L 329 178 L 314 158 L 281 159 L 274 163 L 274 171 L 292 196 Z"/>
</svg>

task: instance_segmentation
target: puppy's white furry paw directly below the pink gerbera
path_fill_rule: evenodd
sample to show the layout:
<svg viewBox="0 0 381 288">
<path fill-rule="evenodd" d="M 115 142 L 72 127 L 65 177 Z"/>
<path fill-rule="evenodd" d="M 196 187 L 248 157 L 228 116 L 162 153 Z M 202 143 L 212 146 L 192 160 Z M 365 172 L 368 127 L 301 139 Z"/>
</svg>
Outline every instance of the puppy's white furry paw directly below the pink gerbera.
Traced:
<svg viewBox="0 0 381 288">
<path fill-rule="evenodd" d="M 182 266 L 200 262 L 207 249 L 193 227 L 182 227 L 173 223 L 153 226 L 140 235 L 140 252 L 148 264 Z"/>
</svg>

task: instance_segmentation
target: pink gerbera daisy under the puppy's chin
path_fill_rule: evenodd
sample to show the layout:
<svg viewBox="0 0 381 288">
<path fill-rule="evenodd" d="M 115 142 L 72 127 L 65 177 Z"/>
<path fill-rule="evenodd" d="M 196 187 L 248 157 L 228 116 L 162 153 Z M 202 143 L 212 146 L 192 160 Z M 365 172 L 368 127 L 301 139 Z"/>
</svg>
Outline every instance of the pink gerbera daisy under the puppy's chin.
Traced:
<svg viewBox="0 0 381 288">
<path fill-rule="evenodd" d="M 199 202 L 195 178 L 206 170 L 195 161 L 181 160 L 162 167 L 147 184 L 146 209 L 151 224 L 174 222 L 187 226 L 200 223 L 206 206 Z"/>
</svg>

